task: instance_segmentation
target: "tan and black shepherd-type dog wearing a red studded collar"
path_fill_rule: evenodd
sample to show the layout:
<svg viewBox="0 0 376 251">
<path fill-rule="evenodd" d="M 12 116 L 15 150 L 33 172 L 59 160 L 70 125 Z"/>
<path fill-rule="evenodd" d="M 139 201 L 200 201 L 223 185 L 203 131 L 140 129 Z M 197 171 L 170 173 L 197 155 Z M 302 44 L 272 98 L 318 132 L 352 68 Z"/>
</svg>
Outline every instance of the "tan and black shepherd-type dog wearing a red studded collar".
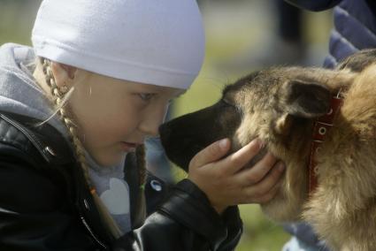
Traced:
<svg viewBox="0 0 376 251">
<path fill-rule="evenodd" d="M 341 99 L 336 110 L 333 96 Z M 313 153 L 313 130 L 330 114 Z M 186 171 L 213 141 L 231 139 L 234 152 L 258 137 L 265 143 L 258 159 L 270 151 L 287 166 L 280 191 L 261 205 L 268 217 L 306 221 L 334 250 L 376 250 L 376 50 L 335 70 L 251 73 L 225 87 L 218 103 L 162 125 L 160 135 L 167 156 Z M 311 162 L 317 186 L 309 193 Z"/>
</svg>

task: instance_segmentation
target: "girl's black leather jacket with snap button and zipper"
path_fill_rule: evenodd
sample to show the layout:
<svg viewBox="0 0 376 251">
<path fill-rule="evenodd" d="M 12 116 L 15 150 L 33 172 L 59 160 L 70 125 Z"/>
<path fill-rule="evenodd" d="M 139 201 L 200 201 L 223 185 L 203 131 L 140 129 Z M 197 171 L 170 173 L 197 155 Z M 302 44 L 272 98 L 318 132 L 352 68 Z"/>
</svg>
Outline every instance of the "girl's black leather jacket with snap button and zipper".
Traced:
<svg viewBox="0 0 376 251">
<path fill-rule="evenodd" d="M 234 250 L 242 234 L 237 207 L 219 217 L 187 179 L 156 191 L 151 180 L 162 181 L 150 175 L 145 205 L 136 168 L 125 172 L 134 231 L 114 240 L 68 143 L 35 122 L 0 114 L 0 250 Z M 135 163 L 127 156 L 127 166 Z M 150 216 L 143 220 L 145 206 Z"/>
</svg>

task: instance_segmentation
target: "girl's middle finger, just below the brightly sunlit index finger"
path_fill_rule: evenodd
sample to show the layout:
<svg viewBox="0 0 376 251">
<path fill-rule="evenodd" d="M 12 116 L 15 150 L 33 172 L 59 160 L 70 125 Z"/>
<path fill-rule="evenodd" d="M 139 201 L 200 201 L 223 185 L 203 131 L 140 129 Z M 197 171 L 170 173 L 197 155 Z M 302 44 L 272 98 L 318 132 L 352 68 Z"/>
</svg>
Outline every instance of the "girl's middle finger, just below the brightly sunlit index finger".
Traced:
<svg viewBox="0 0 376 251">
<path fill-rule="evenodd" d="M 234 179 L 242 186 L 250 186 L 264 179 L 265 175 L 272 170 L 277 162 L 275 156 L 267 153 L 257 164 L 235 174 Z"/>
</svg>

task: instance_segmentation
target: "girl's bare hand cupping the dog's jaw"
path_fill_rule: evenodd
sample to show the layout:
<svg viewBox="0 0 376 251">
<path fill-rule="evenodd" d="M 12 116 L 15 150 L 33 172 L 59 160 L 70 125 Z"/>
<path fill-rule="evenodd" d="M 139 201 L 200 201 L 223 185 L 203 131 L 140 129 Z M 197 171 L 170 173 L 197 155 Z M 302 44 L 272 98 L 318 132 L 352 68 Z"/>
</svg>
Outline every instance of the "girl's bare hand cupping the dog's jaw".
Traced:
<svg viewBox="0 0 376 251">
<path fill-rule="evenodd" d="M 192 158 L 188 179 L 203 190 L 219 214 L 231 205 L 268 202 L 279 189 L 284 164 L 267 153 L 257 164 L 242 170 L 261 147 L 262 142 L 256 139 L 220 159 L 230 149 L 230 141 L 214 142 Z"/>
</svg>

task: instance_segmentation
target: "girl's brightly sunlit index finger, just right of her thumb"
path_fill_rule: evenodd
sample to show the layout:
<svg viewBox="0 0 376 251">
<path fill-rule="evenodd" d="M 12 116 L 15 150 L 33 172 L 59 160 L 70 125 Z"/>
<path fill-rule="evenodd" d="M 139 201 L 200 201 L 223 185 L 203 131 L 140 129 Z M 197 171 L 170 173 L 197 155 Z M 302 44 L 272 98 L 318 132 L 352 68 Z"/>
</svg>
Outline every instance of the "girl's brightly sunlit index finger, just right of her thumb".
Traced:
<svg viewBox="0 0 376 251">
<path fill-rule="evenodd" d="M 249 144 L 242 147 L 234 154 L 227 156 L 221 163 L 221 169 L 226 174 L 234 174 L 244 167 L 249 161 L 257 155 L 262 146 L 262 142 L 258 139 L 250 141 Z"/>
</svg>

